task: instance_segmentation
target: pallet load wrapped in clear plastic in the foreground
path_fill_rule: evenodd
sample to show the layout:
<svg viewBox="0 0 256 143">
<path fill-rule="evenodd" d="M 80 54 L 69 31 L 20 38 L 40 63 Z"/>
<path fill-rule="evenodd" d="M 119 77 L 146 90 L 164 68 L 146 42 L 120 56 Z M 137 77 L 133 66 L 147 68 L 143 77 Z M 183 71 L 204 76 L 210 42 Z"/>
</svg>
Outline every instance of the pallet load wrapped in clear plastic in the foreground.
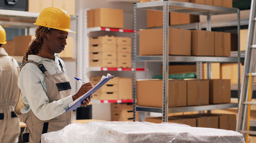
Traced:
<svg viewBox="0 0 256 143">
<path fill-rule="evenodd" d="M 42 134 L 48 142 L 245 142 L 239 132 L 190 127 L 183 124 L 148 122 L 89 122 L 71 124 L 62 130 Z"/>
</svg>

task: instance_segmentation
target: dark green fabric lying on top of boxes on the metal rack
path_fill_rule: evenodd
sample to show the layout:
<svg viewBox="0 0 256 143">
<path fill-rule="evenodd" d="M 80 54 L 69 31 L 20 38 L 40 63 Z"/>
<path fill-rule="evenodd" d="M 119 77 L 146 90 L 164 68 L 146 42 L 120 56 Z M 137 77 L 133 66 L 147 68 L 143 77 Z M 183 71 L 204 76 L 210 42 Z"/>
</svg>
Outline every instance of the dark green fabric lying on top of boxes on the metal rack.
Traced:
<svg viewBox="0 0 256 143">
<path fill-rule="evenodd" d="M 163 79 L 162 75 L 153 75 L 153 79 Z M 185 78 L 197 78 L 197 74 L 194 72 L 184 74 L 169 74 L 169 79 L 185 79 Z"/>
</svg>

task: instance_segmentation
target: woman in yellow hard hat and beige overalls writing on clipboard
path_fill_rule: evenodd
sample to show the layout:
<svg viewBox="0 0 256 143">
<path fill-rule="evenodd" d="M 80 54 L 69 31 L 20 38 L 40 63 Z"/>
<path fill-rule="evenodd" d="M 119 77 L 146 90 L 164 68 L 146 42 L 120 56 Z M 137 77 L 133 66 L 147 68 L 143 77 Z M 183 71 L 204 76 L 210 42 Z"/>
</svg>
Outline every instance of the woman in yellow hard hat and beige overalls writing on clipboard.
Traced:
<svg viewBox="0 0 256 143">
<path fill-rule="evenodd" d="M 23 142 L 40 142 L 41 134 L 57 131 L 71 124 L 69 104 L 91 90 L 83 84 L 71 95 L 70 78 L 65 64 L 55 53 L 65 49 L 70 30 L 69 14 L 58 8 L 44 9 L 36 19 L 38 25 L 24 54 L 19 85 L 22 92 L 15 112 L 26 123 Z M 83 101 L 87 105 L 92 96 Z"/>
</svg>

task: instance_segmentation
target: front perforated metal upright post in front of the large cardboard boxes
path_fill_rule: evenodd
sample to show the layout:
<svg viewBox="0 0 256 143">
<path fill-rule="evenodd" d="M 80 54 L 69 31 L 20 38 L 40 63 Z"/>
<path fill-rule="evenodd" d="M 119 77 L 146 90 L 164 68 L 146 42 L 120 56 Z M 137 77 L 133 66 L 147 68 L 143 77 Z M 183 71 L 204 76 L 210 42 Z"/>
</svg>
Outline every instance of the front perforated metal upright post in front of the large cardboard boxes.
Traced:
<svg viewBox="0 0 256 143">
<path fill-rule="evenodd" d="M 168 122 L 168 43 L 169 43 L 169 3 L 163 1 L 163 116 L 162 121 Z"/>
</svg>

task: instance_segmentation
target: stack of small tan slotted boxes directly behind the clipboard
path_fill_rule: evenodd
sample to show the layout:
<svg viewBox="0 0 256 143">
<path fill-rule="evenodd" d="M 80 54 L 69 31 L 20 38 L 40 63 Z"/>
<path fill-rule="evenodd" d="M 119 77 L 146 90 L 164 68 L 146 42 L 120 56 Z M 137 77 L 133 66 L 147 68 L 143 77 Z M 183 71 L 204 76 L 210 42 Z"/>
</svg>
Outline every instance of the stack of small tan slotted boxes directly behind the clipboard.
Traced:
<svg viewBox="0 0 256 143">
<path fill-rule="evenodd" d="M 96 85 L 100 79 L 100 76 L 92 76 L 90 81 Z M 93 94 L 93 99 L 132 99 L 132 78 L 114 77 Z"/>
</svg>

